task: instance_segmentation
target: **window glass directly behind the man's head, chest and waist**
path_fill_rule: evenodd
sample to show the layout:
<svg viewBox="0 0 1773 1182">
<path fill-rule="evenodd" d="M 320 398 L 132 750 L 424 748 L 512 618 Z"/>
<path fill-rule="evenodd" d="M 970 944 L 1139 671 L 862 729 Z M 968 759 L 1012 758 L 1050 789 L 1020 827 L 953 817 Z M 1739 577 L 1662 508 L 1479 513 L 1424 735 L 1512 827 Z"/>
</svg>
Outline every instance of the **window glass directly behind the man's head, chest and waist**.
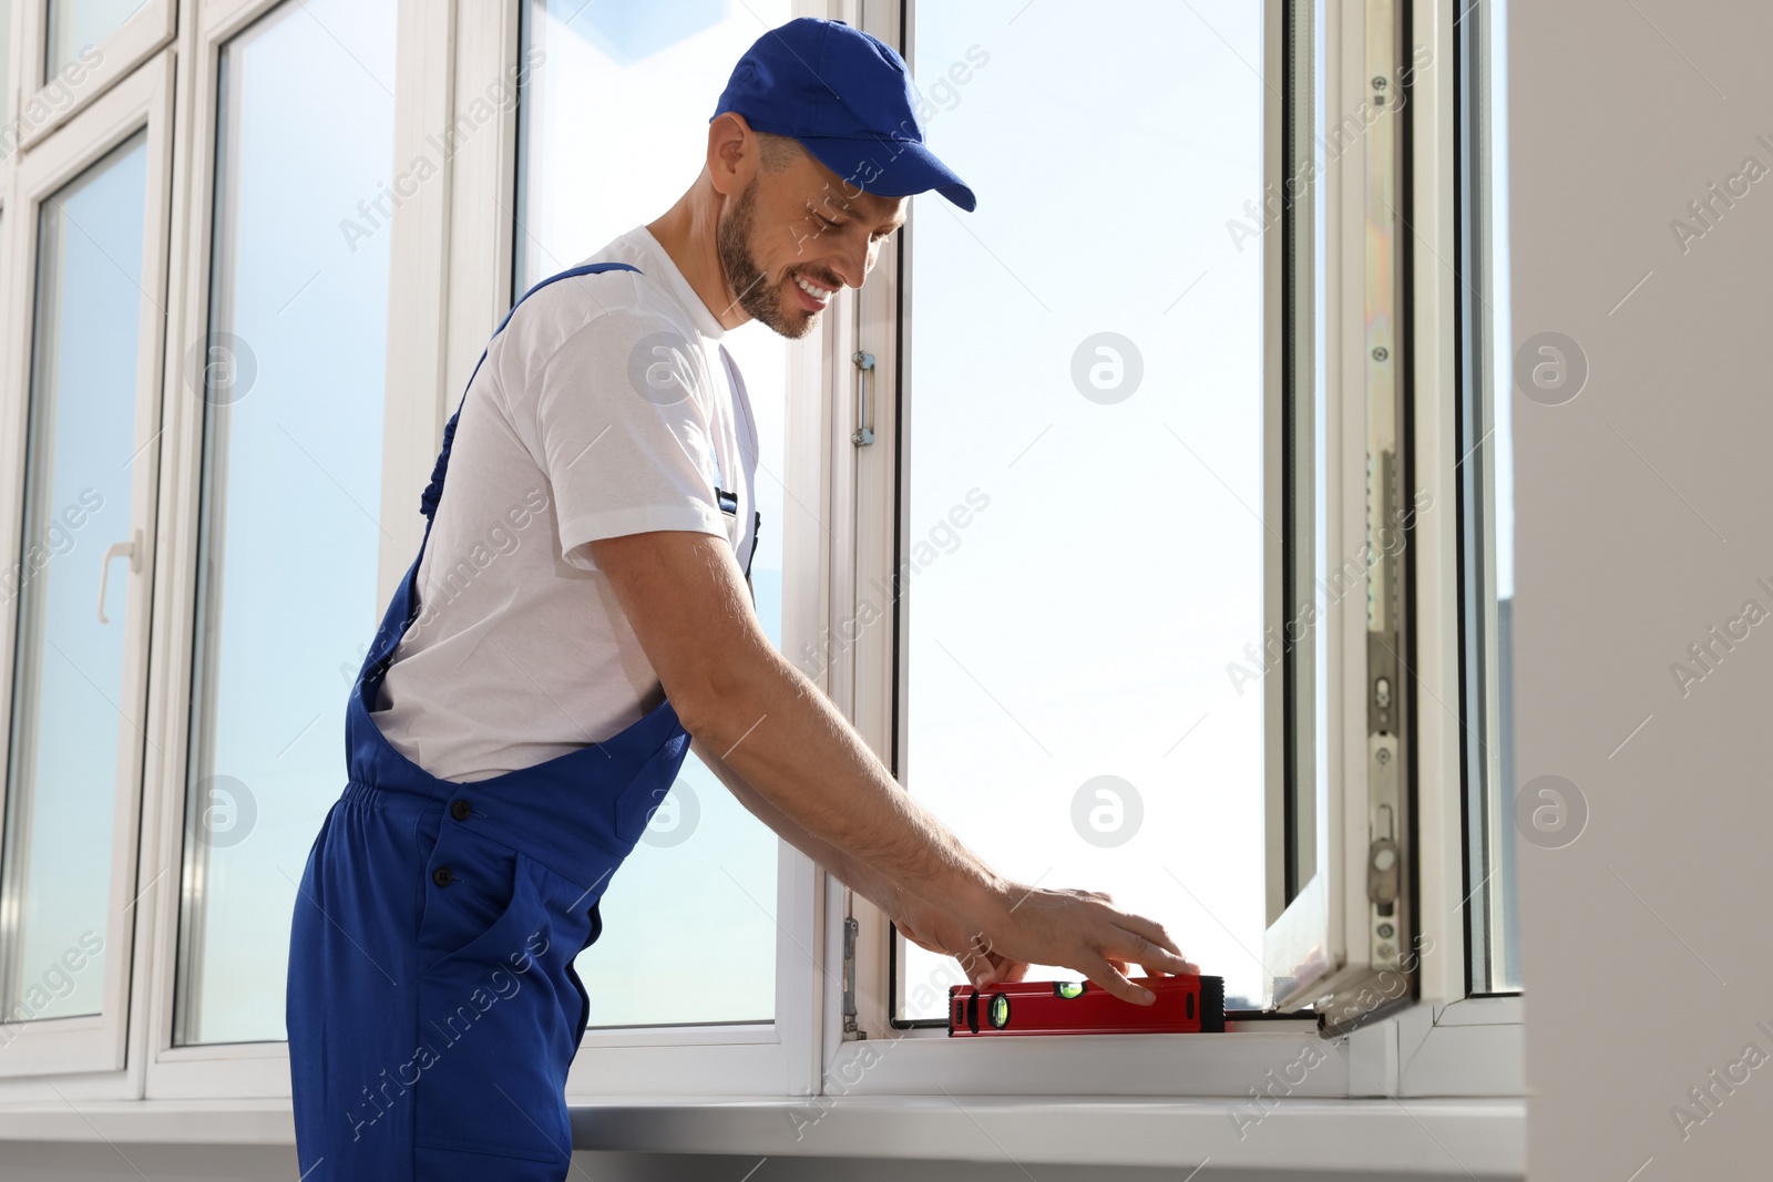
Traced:
<svg viewBox="0 0 1773 1182">
<path fill-rule="evenodd" d="M 527 0 L 518 287 L 663 214 L 702 170 L 734 62 L 789 0 Z M 762 324 L 722 338 L 757 418 L 757 615 L 782 643 L 782 416 L 787 342 Z M 794 509 L 794 512 L 801 512 Z M 592 1026 L 775 1015 L 777 836 L 691 755 L 603 898 L 578 959 Z M 683 950 L 715 966 L 670 971 Z"/>
</svg>

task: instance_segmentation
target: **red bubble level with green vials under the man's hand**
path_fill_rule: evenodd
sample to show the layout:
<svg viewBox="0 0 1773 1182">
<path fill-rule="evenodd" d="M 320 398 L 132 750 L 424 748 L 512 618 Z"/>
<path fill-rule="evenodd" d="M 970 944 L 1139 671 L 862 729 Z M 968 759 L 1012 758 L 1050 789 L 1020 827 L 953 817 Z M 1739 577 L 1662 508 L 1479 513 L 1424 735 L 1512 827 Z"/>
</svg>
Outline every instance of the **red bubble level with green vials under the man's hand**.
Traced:
<svg viewBox="0 0 1773 1182">
<path fill-rule="evenodd" d="M 1197 1035 L 1225 1030 L 1223 976 L 1135 976 L 1158 996 L 1122 1001 L 1089 982 L 1014 982 L 949 987 L 949 1037 L 986 1035 Z"/>
</svg>

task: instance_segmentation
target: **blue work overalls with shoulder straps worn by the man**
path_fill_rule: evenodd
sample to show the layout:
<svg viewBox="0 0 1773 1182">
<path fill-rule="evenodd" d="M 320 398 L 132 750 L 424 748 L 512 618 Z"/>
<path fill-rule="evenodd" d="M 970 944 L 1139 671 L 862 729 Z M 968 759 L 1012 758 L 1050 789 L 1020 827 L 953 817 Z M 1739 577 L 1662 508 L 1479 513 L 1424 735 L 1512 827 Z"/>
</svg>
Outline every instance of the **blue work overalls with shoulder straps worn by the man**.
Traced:
<svg viewBox="0 0 1773 1182">
<path fill-rule="evenodd" d="M 608 269 L 638 271 L 573 268 L 525 298 Z M 426 540 L 459 416 L 420 498 Z M 285 1021 L 301 1177 L 557 1182 L 573 1145 L 566 1076 L 590 1014 L 573 957 L 598 939 L 598 900 L 690 735 L 661 700 L 615 737 L 532 767 L 473 783 L 426 774 L 369 714 L 417 615 L 424 553 L 351 689 L 349 783 L 296 897 Z"/>
</svg>

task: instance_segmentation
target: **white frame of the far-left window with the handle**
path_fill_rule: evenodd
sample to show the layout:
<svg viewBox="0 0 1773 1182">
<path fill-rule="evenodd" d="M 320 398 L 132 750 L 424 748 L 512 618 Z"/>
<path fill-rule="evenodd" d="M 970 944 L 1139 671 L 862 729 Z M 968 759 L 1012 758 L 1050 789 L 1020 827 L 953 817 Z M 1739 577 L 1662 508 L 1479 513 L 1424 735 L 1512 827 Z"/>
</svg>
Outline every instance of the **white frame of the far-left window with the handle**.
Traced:
<svg viewBox="0 0 1773 1182">
<path fill-rule="evenodd" d="M 167 291 L 167 248 L 160 227 L 167 223 L 167 188 L 170 179 L 170 99 L 172 99 L 172 60 L 170 55 L 151 62 L 124 85 L 94 103 L 80 117 L 71 121 L 59 135 L 44 138 L 35 151 L 18 161 L 12 175 L 12 198 L 9 202 L 7 241 L 7 312 L 12 324 L 7 326 L 9 363 L 0 376 L 4 404 L 12 418 L 7 438 L 14 441 L 16 459 L 14 482 L 4 489 L 7 514 L 0 525 L 0 553 L 20 553 L 20 512 L 23 496 L 23 455 L 27 448 L 27 416 L 30 413 L 30 370 L 34 354 L 35 328 L 35 285 L 37 285 L 37 232 L 43 200 L 59 191 L 64 184 L 78 177 L 106 152 L 113 151 L 137 133 L 145 129 L 145 183 L 144 183 L 144 243 L 142 243 L 142 312 L 137 337 L 137 434 L 142 425 L 154 422 L 161 415 L 161 351 L 163 340 L 156 331 L 158 301 L 147 292 Z M 23 214 L 23 216 L 11 216 Z M 161 294 L 161 298 L 165 298 Z M 151 649 L 151 595 L 149 588 L 156 578 L 160 526 L 158 526 L 158 475 L 160 454 L 151 447 L 152 438 L 142 447 L 137 471 L 131 473 L 131 517 L 129 530 L 140 532 L 142 562 L 126 578 L 124 606 L 124 672 L 122 684 L 133 695 L 133 702 L 124 704 L 138 719 L 145 734 L 152 734 L 152 696 L 149 689 L 149 654 Z M 126 564 L 128 565 L 128 564 Z M 11 718 L 12 711 L 12 675 L 16 659 L 16 620 L 18 613 L 9 611 L 0 629 L 4 629 L 4 650 L 7 677 L 0 686 L 0 711 Z M 0 748 L 11 744 L 11 727 L 0 737 Z M 105 1001 L 103 1012 L 87 1017 L 62 1017 L 21 1023 L 16 1026 L 18 1042 L 12 1054 L 0 1060 L 0 1079 L 50 1077 L 73 1072 L 105 1072 L 124 1065 L 124 1040 L 129 1030 L 131 982 L 138 973 L 142 957 L 135 957 L 135 929 L 140 911 L 135 900 L 142 897 L 152 879 L 145 875 L 147 863 L 137 854 L 137 833 L 142 819 L 142 780 L 152 762 L 145 744 L 119 744 L 121 762 L 131 774 L 119 774 L 112 813 L 112 914 L 106 932 L 105 964 Z M 0 810 L 5 801 L 0 799 Z M 4 1090 L 0 1090 L 4 1095 Z"/>
</svg>

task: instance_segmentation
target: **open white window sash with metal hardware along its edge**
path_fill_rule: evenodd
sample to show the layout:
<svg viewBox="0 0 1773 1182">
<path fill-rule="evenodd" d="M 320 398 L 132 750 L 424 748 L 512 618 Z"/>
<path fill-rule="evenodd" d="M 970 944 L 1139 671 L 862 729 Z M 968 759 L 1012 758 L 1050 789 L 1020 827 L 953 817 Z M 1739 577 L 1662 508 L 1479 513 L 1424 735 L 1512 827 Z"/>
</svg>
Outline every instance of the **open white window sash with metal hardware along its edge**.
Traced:
<svg viewBox="0 0 1773 1182">
<path fill-rule="evenodd" d="M 1264 960 L 1275 1008 L 1312 1008 L 1339 1033 L 1408 1003 L 1420 959 L 1413 349 L 1401 298 L 1408 4 L 1324 0 L 1321 14 L 1278 4 L 1294 85 L 1269 96 L 1280 135 L 1268 195 L 1280 216 L 1266 234 L 1268 429 L 1287 463 L 1264 489 L 1285 523 L 1268 553 L 1282 677 L 1268 679 Z"/>
</svg>

